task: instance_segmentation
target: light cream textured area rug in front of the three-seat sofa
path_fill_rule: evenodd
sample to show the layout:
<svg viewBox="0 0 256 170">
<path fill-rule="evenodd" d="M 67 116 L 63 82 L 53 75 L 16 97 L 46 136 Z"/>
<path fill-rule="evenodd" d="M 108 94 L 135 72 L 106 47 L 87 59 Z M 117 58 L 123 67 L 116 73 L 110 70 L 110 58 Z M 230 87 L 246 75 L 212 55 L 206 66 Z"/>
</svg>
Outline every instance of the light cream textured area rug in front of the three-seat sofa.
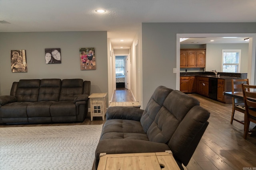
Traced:
<svg viewBox="0 0 256 170">
<path fill-rule="evenodd" d="M 92 170 L 102 125 L 0 128 L 0 170 Z"/>
</svg>

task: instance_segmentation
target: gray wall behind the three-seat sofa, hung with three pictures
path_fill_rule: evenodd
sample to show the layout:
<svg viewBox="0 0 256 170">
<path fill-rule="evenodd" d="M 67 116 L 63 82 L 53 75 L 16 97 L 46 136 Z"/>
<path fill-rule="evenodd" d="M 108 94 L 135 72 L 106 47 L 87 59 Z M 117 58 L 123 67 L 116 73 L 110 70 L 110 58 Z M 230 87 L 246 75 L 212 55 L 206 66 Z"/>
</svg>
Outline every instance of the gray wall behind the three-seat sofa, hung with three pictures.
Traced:
<svg viewBox="0 0 256 170">
<path fill-rule="evenodd" d="M 95 47 L 96 70 L 80 70 L 82 47 Z M 45 64 L 45 48 L 60 48 L 61 64 Z M 28 72 L 11 72 L 15 49 L 26 50 Z M 91 81 L 91 94 L 108 92 L 107 54 L 106 31 L 0 33 L 1 94 L 9 95 L 14 81 L 33 78 L 82 78 Z"/>
</svg>

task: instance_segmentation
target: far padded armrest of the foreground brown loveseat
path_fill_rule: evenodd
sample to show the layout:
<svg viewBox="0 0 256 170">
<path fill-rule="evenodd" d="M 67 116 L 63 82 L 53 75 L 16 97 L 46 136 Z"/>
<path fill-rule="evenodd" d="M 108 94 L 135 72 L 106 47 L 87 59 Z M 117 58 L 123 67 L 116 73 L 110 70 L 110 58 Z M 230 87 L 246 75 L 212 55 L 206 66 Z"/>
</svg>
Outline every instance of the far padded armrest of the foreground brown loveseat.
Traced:
<svg viewBox="0 0 256 170">
<path fill-rule="evenodd" d="M 107 109 L 106 119 L 128 119 L 140 121 L 143 112 L 143 109 L 135 107 L 114 106 Z"/>
</svg>

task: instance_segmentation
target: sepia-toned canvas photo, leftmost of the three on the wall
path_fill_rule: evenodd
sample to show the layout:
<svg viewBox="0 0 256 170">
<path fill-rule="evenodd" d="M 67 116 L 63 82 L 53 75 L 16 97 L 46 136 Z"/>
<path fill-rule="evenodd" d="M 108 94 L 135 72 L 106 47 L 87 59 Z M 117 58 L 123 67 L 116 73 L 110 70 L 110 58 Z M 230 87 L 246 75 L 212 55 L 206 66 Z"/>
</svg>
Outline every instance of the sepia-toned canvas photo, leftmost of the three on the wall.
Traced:
<svg viewBox="0 0 256 170">
<path fill-rule="evenodd" d="M 28 72 L 26 50 L 10 50 L 12 72 Z"/>
</svg>

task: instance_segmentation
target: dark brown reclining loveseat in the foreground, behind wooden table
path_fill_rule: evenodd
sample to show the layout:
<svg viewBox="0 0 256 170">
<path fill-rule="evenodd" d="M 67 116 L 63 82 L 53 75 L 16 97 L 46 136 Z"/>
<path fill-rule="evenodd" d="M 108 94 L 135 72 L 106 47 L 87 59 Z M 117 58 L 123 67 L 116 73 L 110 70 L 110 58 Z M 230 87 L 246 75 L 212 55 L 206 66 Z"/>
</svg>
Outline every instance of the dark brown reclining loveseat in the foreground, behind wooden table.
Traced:
<svg viewBox="0 0 256 170">
<path fill-rule="evenodd" d="M 95 152 L 95 168 L 100 153 L 142 153 L 171 150 L 182 168 L 194 153 L 210 113 L 198 100 L 164 86 L 156 88 L 145 110 L 110 107 L 106 112 Z"/>
</svg>

